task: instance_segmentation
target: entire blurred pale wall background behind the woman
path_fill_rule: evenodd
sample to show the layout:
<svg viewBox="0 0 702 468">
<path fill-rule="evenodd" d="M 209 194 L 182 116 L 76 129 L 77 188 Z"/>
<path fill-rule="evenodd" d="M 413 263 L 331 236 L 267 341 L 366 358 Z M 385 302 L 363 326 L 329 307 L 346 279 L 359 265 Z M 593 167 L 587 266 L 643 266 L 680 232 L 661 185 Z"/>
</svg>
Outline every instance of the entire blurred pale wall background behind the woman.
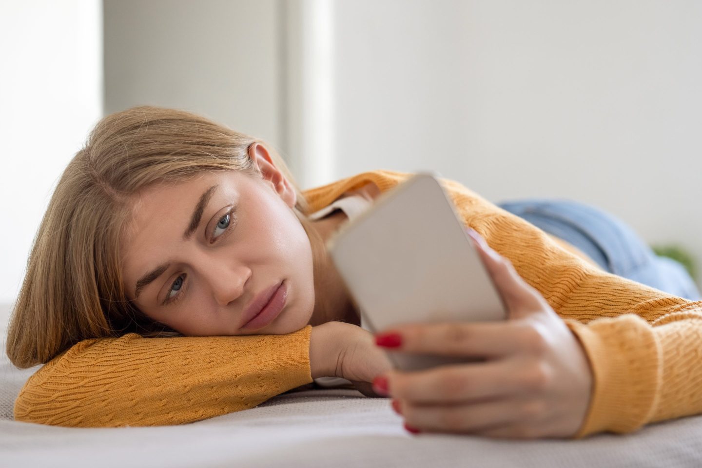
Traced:
<svg viewBox="0 0 702 468">
<path fill-rule="evenodd" d="M 697 0 L 5 0 L 0 44 L 0 302 L 88 131 L 143 104 L 267 140 L 302 189 L 437 171 L 702 262 Z"/>
</svg>

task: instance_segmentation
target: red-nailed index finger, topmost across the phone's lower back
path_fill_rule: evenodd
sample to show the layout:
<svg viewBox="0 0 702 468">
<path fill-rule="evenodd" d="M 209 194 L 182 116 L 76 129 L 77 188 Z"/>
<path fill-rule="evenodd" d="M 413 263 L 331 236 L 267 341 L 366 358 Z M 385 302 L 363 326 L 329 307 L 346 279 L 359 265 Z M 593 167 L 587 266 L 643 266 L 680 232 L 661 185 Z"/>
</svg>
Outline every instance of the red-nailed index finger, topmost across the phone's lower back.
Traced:
<svg viewBox="0 0 702 468">
<path fill-rule="evenodd" d="M 397 335 L 392 351 L 494 359 L 523 352 L 525 328 L 519 321 L 406 323 L 378 333 L 376 343 Z"/>
</svg>

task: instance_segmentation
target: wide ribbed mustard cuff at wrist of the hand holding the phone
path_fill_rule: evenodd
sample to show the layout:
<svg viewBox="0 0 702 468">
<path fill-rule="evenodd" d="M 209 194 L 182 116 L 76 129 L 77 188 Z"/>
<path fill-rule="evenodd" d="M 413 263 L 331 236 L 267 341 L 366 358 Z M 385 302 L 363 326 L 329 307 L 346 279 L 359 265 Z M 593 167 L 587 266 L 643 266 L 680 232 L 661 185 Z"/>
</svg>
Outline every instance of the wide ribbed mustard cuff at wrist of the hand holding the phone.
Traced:
<svg viewBox="0 0 702 468">
<path fill-rule="evenodd" d="M 635 314 L 588 324 L 564 319 L 590 361 L 590 408 L 573 439 L 597 432 L 633 432 L 651 420 L 661 384 L 660 346 L 651 326 Z"/>
</svg>

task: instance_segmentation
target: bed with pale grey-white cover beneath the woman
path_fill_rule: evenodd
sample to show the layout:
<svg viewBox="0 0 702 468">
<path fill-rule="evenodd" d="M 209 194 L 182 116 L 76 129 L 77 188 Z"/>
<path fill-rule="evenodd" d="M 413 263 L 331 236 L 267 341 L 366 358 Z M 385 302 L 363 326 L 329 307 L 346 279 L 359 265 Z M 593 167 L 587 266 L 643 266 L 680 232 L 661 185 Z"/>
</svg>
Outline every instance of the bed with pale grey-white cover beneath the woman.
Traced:
<svg viewBox="0 0 702 468">
<path fill-rule="evenodd" d="M 384 398 L 305 389 L 250 410 L 164 427 L 81 429 L 15 422 L 12 406 L 37 368 L 5 355 L 0 305 L 0 467 L 701 467 L 702 415 L 634 434 L 510 441 L 409 434 Z"/>
</svg>

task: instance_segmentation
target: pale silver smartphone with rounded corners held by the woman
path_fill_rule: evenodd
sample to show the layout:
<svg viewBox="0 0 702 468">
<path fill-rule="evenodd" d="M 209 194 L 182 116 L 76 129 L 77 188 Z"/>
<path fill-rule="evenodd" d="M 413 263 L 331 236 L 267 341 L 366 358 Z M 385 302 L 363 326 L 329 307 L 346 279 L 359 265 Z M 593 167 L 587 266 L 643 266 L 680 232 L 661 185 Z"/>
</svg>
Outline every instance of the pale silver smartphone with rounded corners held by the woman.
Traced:
<svg viewBox="0 0 702 468">
<path fill-rule="evenodd" d="M 383 192 L 326 242 L 371 332 L 401 323 L 497 321 L 507 309 L 438 175 Z M 400 370 L 483 361 L 388 352 Z"/>
</svg>

